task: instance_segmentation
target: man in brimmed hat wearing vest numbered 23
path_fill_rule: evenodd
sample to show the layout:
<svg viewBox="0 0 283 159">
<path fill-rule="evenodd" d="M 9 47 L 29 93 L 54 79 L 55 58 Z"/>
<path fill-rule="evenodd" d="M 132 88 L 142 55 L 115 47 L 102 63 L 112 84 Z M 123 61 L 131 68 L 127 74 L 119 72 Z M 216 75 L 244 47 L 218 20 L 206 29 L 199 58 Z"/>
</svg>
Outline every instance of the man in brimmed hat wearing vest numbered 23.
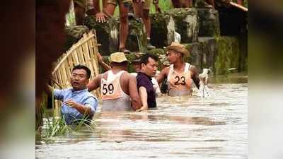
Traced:
<svg viewBox="0 0 283 159">
<path fill-rule="evenodd" d="M 200 78 L 197 68 L 183 61 L 183 57 L 187 56 L 189 51 L 183 45 L 175 42 L 172 42 L 166 49 L 168 50 L 166 54 L 171 65 L 161 71 L 157 78 L 158 83 L 161 83 L 167 77 L 168 95 L 190 95 L 192 81 L 199 88 Z"/>
</svg>

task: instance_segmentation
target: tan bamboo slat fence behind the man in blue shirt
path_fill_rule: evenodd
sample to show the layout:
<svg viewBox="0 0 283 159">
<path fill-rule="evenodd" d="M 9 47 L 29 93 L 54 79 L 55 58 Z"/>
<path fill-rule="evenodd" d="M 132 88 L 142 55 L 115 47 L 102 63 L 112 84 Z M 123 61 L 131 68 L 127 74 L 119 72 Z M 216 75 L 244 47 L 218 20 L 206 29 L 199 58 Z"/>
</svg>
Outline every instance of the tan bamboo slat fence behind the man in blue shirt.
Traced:
<svg viewBox="0 0 283 159">
<path fill-rule="evenodd" d="M 76 42 L 66 53 L 62 54 L 57 60 L 56 66 L 52 71 L 52 81 L 54 88 L 70 88 L 69 82 L 71 71 L 77 64 L 83 64 L 91 70 L 91 79 L 98 76 L 98 44 L 96 40 L 96 31 L 91 30 L 88 34 L 83 34 L 83 37 Z M 93 90 L 91 93 L 100 98 L 100 88 Z M 58 102 L 55 102 L 55 107 L 58 107 Z"/>
</svg>

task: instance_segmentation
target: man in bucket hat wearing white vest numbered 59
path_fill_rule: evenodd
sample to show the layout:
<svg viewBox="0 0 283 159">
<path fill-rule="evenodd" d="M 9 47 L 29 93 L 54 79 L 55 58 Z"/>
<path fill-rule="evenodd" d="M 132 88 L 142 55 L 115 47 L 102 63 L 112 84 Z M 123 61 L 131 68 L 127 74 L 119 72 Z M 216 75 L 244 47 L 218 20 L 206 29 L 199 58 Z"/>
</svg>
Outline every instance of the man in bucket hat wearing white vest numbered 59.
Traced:
<svg viewBox="0 0 283 159">
<path fill-rule="evenodd" d="M 141 100 L 137 91 L 137 79 L 127 70 L 127 58 L 123 52 L 110 55 L 111 69 L 88 83 L 88 91 L 100 86 L 102 112 L 139 110 Z"/>
</svg>

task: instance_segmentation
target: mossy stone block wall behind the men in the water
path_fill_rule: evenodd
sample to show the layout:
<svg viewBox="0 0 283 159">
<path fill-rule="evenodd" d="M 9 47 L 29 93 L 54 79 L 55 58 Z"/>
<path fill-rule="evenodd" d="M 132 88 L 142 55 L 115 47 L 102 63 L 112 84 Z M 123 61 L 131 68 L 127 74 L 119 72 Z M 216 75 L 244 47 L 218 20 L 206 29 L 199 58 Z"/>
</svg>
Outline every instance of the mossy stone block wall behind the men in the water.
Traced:
<svg viewBox="0 0 283 159">
<path fill-rule="evenodd" d="M 164 47 L 174 41 L 175 31 L 181 35 L 181 43 L 190 51 L 185 61 L 199 69 L 210 68 L 215 75 L 227 74 L 229 69 L 246 71 L 248 56 L 246 36 L 220 36 L 218 12 L 212 8 L 175 8 L 166 13 L 151 15 L 151 43 L 157 48 L 147 52 L 165 54 Z M 96 23 L 94 17 L 86 17 L 86 26 L 67 28 L 68 47 L 87 30 L 96 29 L 99 52 L 109 56 L 119 46 L 119 19 L 109 18 L 107 23 Z M 73 30 L 73 31 L 71 31 Z M 79 30 L 74 32 L 74 30 Z M 78 33 L 79 32 L 79 33 Z M 239 41 L 241 39 L 241 41 Z M 139 19 L 129 19 L 127 49 L 146 52 L 146 33 Z M 134 59 L 134 54 L 127 55 Z M 129 66 L 129 70 L 132 68 Z"/>
</svg>

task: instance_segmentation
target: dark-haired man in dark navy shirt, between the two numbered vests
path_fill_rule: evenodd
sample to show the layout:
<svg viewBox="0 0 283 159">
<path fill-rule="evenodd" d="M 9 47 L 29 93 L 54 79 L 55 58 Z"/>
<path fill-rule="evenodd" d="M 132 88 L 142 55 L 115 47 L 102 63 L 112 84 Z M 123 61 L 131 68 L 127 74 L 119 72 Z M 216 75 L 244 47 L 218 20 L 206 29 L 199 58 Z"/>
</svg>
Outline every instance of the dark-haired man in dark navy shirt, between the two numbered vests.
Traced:
<svg viewBox="0 0 283 159">
<path fill-rule="evenodd" d="M 158 57 L 154 54 L 145 54 L 141 57 L 141 70 L 137 73 L 137 88 L 141 98 L 142 107 L 137 110 L 147 110 L 149 107 L 156 107 L 156 95 L 151 77 L 157 71 Z"/>
</svg>

